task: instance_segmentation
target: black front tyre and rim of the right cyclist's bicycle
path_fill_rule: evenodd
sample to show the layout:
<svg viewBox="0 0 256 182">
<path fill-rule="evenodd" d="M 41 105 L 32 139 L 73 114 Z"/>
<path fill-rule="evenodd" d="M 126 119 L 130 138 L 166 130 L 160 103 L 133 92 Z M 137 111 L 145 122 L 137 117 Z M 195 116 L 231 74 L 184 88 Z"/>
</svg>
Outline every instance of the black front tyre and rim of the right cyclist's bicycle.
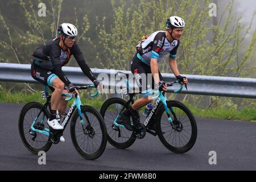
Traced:
<svg viewBox="0 0 256 182">
<path fill-rule="evenodd" d="M 167 101 L 167 106 L 168 106 L 168 108 L 172 107 L 172 109 L 175 112 L 176 117 L 177 117 L 177 114 L 180 113 L 179 110 L 184 112 L 184 114 L 180 115 L 179 118 L 177 117 L 177 121 L 179 121 L 179 122 L 176 122 L 176 125 L 175 125 L 175 126 L 177 126 L 177 129 L 181 128 L 182 130 L 181 131 L 175 130 L 171 125 L 169 126 L 170 123 L 168 122 L 168 119 L 163 119 L 163 113 L 164 113 L 165 109 L 164 109 L 164 106 L 162 104 L 159 108 L 159 111 L 158 111 L 158 119 L 156 120 L 157 121 L 156 122 L 156 131 L 158 133 L 158 137 L 159 137 L 160 141 L 163 143 L 163 145 L 168 150 L 170 150 L 172 152 L 175 152 L 177 154 L 185 153 L 185 152 L 191 150 L 191 148 L 193 147 L 193 145 L 196 142 L 196 138 L 197 138 L 196 120 L 193 117 L 193 114 L 191 113 L 191 111 L 188 109 L 188 107 L 185 106 L 184 104 L 182 104 L 179 101 Z M 170 111 L 170 109 L 169 109 L 169 111 Z M 170 112 L 170 114 L 171 114 L 172 119 L 174 120 L 173 123 L 175 123 L 175 119 L 173 117 L 173 114 L 171 112 Z M 166 114 L 166 118 L 167 118 L 167 114 Z M 188 121 L 181 122 L 185 118 L 188 118 L 189 123 L 191 123 L 191 136 L 190 136 L 188 142 L 183 144 L 183 146 L 177 146 L 176 134 L 179 135 L 179 139 L 184 139 L 185 137 L 187 137 L 185 134 L 189 133 L 188 131 L 190 131 L 190 130 L 187 129 L 188 125 L 187 125 L 186 122 L 188 122 Z M 167 121 L 163 121 L 163 120 L 167 120 Z M 179 125 L 177 123 L 179 123 Z M 187 126 L 184 126 L 184 123 L 186 123 Z M 165 131 L 163 131 L 163 128 L 161 127 L 161 125 L 166 125 L 164 127 Z M 166 130 L 168 130 L 167 129 L 168 127 L 171 127 L 170 129 L 172 129 L 172 130 L 170 130 L 170 133 L 166 132 Z M 186 127 L 186 129 L 184 129 L 185 127 Z M 184 131 L 183 134 L 181 134 L 182 131 Z M 164 135 L 167 135 L 167 136 L 170 135 L 170 137 L 169 137 L 169 139 L 170 139 L 172 133 L 174 133 L 174 136 L 175 136 L 174 138 L 176 140 L 176 145 L 174 145 L 174 143 L 171 144 L 170 140 L 167 141 L 167 139 L 164 136 Z M 174 138 L 172 138 L 172 142 L 174 142 Z M 179 141 L 179 143 L 182 143 L 182 142 Z"/>
</svg>

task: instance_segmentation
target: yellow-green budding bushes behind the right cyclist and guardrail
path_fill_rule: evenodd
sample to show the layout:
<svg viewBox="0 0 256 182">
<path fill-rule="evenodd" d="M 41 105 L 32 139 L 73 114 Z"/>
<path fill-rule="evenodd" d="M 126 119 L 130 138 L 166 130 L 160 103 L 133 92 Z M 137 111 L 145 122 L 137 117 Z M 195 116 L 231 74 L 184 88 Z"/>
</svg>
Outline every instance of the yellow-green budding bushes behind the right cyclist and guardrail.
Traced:
<svg viewBox="0 0 256 182">
<path fill-rule="evenodd" d="M 243 49 L 251 24 L 245 27 L 241 17 L 235 18 L 233 1 L 226 6 L 218 19 L 209 16 L 212 1 L 165 1 L 112 0 L 114 22 L 110 30 L 105 27 L 106 19 L 98 20 L 97 32 L 101 48 L 98 58 L 107 69 L 130 69 L 130 60 L 135 54 L 135 46 L 143 35 L 165 30 L 166 19 L 170 15 L 183 17 L 186 23 L 183 38 L 177 51 L 177 62 L 183 74 L 254 77 L 255 68 L 250 64 L 255 52 L 256 30 L 249 46 Z M 150 5 L 150 6 L 148 6 Z M 168 57 L 168 56 L 167 56 Z M 168 58 L 167 58 L 168 59 Z M 159 64 L 160 71 L 170 73 L 168 61 Z M 183 96 L 195 104 L 204 101 L 205 96 Z M 217 104 L 216 104 L 217 103 Z M 230 105 L 230 99 L 220 100 L 210 97 L 209 106 Z"/>
</svg>

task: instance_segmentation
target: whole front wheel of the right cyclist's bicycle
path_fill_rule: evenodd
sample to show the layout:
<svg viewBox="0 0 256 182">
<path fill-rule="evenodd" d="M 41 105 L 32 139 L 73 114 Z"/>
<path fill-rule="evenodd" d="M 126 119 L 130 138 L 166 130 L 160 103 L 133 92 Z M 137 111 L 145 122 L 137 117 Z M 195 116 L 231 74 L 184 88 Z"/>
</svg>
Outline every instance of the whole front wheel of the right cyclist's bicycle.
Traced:
<svg viewBox="0 0 256 182">
<path fill-rule="evenodd" d="M 172 123 L 164 113 L 164 106 L 159 108 L 159 117 L 156 119 L 158 137 L 168 150 L 181 154 L 189 151 L 196 142 L 197 126 L 191 111 L 178 101 L 167 101 Z"/>
</svg>

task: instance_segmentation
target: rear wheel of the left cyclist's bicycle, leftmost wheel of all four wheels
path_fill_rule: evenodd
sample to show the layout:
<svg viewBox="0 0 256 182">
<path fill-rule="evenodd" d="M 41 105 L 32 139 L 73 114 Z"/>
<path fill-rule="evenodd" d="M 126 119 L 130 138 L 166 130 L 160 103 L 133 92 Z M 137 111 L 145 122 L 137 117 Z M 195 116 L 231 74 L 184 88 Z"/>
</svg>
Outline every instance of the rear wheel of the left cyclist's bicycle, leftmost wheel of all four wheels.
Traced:
<svg viewBox="0 0 256 182">
<path fill-rule="evenodd" d="M 49 112 L 43 109 L 42 113 L 36 118 L 43 109 L 43 105 L 38 102 L 29 102 L 26 104 L 19 115 L 19 134 L 24 146 L 33 154 L 38 154 L 39 151 L 47 152 L 52 146 L 49 136 L 32 131 L 31 125 L 36 119 L 34 128 L 38 130 L 49 129 L 47 119 Z"/>
</svg>

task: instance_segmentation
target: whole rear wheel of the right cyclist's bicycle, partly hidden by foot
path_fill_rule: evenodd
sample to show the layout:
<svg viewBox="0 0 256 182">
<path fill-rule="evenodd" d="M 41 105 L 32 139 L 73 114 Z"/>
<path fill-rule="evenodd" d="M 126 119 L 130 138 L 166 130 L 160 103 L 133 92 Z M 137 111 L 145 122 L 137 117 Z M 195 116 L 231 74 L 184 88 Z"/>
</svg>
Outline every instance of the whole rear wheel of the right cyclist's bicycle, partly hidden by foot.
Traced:
<svg viewBox="0 0 256 182">
<path fill-rule="evenodd" d="M 126 101 L 121 98 L 109 98 L 101 106 L 100 113 L 106 124 L 108 141 L 116 148 L 128 148 L 136 140 L 134 131 L 129 131 L 123 127 L 117 127 L 117 130 L 113 129 L 114 120 L 125 105 Z"/>
</svg>

